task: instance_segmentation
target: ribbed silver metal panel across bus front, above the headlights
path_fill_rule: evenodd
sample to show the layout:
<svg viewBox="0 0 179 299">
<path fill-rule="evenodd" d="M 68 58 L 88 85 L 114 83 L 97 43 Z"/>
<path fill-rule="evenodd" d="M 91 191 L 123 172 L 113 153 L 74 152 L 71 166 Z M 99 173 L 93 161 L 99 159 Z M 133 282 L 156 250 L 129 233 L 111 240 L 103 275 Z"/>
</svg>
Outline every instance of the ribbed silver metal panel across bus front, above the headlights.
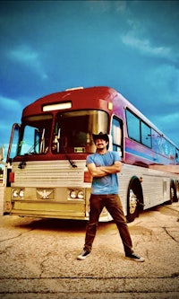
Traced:
<svg viewBox="0 0 179 299">
<path fill-rule="evenodd" d="M 75 161 L 75 164 L 76 168 L 72 168 L 68 161 L 27 162 L 24 169 L 19 169 L 19 163 L 13 163 L 12 187 L 81 187 L 85 161 Z"/>
</svg>

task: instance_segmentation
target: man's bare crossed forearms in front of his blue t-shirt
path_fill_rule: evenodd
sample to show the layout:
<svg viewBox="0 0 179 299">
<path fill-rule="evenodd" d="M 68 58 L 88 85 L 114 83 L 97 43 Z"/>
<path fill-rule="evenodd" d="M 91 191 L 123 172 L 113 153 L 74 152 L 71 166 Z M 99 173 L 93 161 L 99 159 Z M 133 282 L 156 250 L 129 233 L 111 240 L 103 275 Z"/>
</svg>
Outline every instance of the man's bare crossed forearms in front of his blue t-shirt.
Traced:
<svg viewBox="0 0 179 299">
<path fill-rule="evenodd" d="M 100 178 L 107 174 L 120 172 L 122 163 L 120 161 L 115 161 L 111 166 L 96 166 L 95 163 L 90 163 L 87 167 L 93 177 Z"/>
</svg>

